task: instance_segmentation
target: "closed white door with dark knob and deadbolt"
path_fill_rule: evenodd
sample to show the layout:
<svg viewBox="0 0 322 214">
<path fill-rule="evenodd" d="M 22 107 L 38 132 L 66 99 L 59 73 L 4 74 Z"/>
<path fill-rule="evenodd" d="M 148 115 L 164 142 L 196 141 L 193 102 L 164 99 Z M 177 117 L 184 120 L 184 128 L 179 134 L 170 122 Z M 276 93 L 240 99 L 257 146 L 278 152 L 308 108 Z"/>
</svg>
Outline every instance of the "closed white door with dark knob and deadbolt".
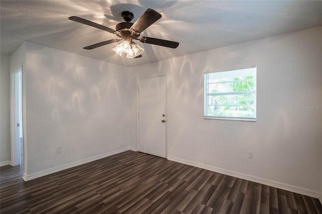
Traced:
<svg viewBox="0 0 322 214">
<path fill-rule="evenodd" d="M 139 79 L 139 151 L 166 158 L 166 76 Z"/>
</svg>

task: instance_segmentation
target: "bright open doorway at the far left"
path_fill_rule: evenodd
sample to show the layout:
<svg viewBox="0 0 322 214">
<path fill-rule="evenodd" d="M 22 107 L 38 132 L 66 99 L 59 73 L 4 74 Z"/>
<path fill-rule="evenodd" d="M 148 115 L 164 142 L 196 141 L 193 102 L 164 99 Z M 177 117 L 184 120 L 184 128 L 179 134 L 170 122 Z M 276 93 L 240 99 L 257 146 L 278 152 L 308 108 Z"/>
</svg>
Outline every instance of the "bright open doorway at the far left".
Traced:
<svg viewBox="0 0 322 214">
<path fill-rule="evenodd" d="M 11 74 L 11 165 L 23 164 L 22 70 Z"/>
</svg>

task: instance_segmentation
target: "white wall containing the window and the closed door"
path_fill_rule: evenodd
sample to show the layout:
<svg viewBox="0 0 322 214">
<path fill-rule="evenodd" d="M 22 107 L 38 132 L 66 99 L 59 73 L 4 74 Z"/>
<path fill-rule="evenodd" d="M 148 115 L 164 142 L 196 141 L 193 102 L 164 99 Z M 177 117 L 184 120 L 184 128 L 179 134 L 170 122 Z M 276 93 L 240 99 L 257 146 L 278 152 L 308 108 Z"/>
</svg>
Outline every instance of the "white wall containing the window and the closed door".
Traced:
<svg viewBox="0 0 322 214">
<path fill-rule="evenodd" d="M 169 159 L 318 196 L 322 110 L 304 106 L 322 105 L 321 38 L 317 27 L 131 68 L 131 118 L 137 75 L 167 73 Z M 203 73 L 253 65 L 257 122 L 204 120 Z M 136 126 L 131 139 L 136 147 Z"/>
</svg>

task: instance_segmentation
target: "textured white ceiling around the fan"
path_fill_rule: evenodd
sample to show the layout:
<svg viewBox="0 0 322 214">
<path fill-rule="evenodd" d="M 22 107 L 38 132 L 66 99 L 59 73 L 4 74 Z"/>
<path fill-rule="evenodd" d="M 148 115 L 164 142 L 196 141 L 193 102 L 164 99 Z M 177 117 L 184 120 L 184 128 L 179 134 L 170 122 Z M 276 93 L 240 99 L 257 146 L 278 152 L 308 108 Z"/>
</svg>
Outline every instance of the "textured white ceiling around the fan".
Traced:
<svg viewBox="0 0 322 214">
<path fill-rule="evenodd" d="M 3 1 L 1 53 L 24 41 L 125 66 L 135 66 L 322 25 L 322 1 Z M 141 36 L 177 41 L 177 49 L 137 42 L 141 58 L 115 54 L 116 43 L 83 47 L 116 35 L 68 20 L 78 16 L 115 29 L 131 11 L 135 22 L 148 8 L 162 18 Z"/>
</svg>

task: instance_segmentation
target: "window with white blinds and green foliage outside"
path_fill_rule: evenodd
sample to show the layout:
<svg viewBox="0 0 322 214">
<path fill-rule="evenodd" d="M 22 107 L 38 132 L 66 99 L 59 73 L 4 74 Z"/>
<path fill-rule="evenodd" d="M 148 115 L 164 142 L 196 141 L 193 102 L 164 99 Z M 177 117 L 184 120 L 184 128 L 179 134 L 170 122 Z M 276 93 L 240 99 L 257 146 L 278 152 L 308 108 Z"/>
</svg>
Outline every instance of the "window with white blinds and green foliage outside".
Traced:
<svg viewBox="0 0 322 214">
<path fill-rule="evenodd" d="M 256 67 L 204 74 L 204 118 L 256 121 Z"/>
</svg>

